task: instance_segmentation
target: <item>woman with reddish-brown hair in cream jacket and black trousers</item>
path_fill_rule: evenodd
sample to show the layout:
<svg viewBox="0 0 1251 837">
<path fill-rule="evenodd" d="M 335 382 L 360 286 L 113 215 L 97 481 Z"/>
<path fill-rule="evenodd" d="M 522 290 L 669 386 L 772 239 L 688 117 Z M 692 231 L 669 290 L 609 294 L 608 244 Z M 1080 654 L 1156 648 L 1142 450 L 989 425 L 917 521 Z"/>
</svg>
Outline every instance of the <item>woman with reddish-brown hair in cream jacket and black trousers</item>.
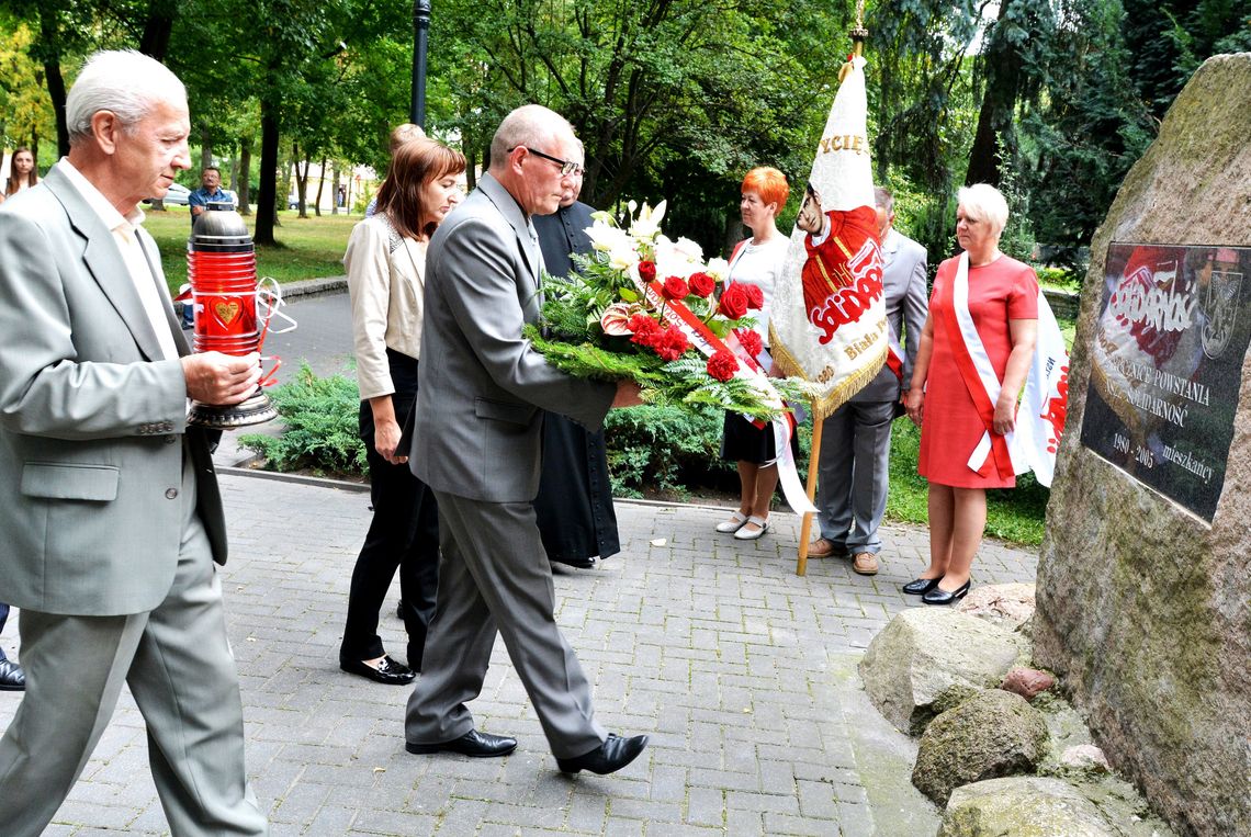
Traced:
<svg viewBox="0 0 1251 837">
<path fill-rule="evenodd" d="M 458 176 L 464 170 L 464 155 L 440 143 L 414 139 L 402 145 L 378 190 L 377 213 L 352 230 L 343 256 L 374 518 L 352 573 L 339 667 L 395 686 L 410 683 L 422 671 L 439 562 L 434 494 L 409 470 L 407 452 L 398 449 L 400 425 L 417 400 L 425 248 L 459 203 Z M 397 567 L 408 666 L 392 659 L 378 636 L 379 611 Z"/>
</svg>

